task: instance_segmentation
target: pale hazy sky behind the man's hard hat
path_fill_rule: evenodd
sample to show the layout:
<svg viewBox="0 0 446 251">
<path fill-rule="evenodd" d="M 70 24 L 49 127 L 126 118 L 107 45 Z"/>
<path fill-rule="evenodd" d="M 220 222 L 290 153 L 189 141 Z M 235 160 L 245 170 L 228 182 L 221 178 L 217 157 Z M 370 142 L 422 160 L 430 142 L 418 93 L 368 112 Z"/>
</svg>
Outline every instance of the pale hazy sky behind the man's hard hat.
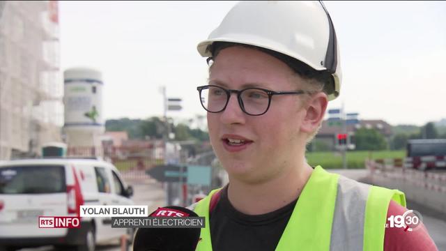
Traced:
<svg viewBox="0 0 446 251">
<path fill-rule="evenodd" d="M 61 70 L 104 80 L 105 119 L 163 115 L 160 87 L 181 98 L 181 121 L 206 115 L 196 86 L 208 66 L 197 44 L 236 1 L 60 1 Z M 360 119 L 421 126 L 446 118 L 446 1 L 327 1 L 341 53 L 341 96 Z"/>
</svg>

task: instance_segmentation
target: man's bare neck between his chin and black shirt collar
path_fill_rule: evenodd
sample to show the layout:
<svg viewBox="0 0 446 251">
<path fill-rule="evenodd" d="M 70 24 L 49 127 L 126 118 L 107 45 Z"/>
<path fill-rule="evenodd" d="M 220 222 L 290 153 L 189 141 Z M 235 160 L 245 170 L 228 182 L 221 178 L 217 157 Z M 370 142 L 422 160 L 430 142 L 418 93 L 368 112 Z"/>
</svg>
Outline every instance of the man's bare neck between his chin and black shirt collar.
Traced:
<svg viewBox="0 0 446 251">
<path fill-rule="evenodd" d="M 313 172 L 307 163 L 289 169 L 270 181 L 249 184 L 233 180 L 229 184 L 228 199 L 241 213 L 259 215 L 275 211 L 295 200 Z"/>
</svg>

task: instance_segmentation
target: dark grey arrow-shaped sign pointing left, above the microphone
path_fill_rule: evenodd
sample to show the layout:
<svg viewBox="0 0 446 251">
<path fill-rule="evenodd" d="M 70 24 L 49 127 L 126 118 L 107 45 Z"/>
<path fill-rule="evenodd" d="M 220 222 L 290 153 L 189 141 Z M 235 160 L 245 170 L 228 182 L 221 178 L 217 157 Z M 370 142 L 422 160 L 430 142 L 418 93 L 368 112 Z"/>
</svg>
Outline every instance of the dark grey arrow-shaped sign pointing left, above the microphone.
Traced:
<svg viewBox="0 0 446 251">
<path fill-rule="evenodd" d="M 183 175 L 181 175 L 183 173 Z M 152 176 L 157 181 L 161 182 L 180 182 L 183 177 L 183 182 L 187 182 L 187 167 L 180 165 L 157 165 L 146 174 Z"/>
</svg>

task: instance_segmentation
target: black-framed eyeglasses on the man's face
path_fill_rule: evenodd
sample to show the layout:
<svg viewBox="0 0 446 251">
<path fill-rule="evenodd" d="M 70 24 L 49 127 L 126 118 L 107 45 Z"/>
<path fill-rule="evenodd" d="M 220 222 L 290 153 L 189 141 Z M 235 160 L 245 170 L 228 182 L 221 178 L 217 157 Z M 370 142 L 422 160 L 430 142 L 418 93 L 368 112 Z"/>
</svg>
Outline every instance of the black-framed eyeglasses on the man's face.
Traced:
<svg viewBox="0 0 446 251">
<path fill-rule="evenodd" d="M 208 112 L 222 112 L 228 105 L 231 93 L 237 93 L 238 105 L 245 114 L 259 116 L 265 114 L 271 105 L 273 95 L 311 94 L 308 91 L 271 91 L 262 88 L 247 88 L 243 90 L 224 89 L 221 86 L 198 86 L 201 105 Z"/>
</svg>

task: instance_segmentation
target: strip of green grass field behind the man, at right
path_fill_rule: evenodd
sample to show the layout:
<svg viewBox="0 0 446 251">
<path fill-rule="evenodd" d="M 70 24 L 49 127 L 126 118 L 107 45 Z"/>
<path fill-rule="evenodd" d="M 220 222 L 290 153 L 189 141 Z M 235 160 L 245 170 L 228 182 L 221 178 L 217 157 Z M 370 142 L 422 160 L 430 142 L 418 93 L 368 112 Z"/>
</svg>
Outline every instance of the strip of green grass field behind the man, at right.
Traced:
<svg viewBox="0 0 446 251">
<path fill-rule="evenodd" d="M 406 151 L 348 151 L 348 169 L 362 169 L 367 158 L 373 160 L 382 158 L 404 158 Z M 313 152 L 307 153 L 309 165 L 321 165 L 325 169 L 341 169 L 342 155 L 339 152 Z"/>
</svg>

